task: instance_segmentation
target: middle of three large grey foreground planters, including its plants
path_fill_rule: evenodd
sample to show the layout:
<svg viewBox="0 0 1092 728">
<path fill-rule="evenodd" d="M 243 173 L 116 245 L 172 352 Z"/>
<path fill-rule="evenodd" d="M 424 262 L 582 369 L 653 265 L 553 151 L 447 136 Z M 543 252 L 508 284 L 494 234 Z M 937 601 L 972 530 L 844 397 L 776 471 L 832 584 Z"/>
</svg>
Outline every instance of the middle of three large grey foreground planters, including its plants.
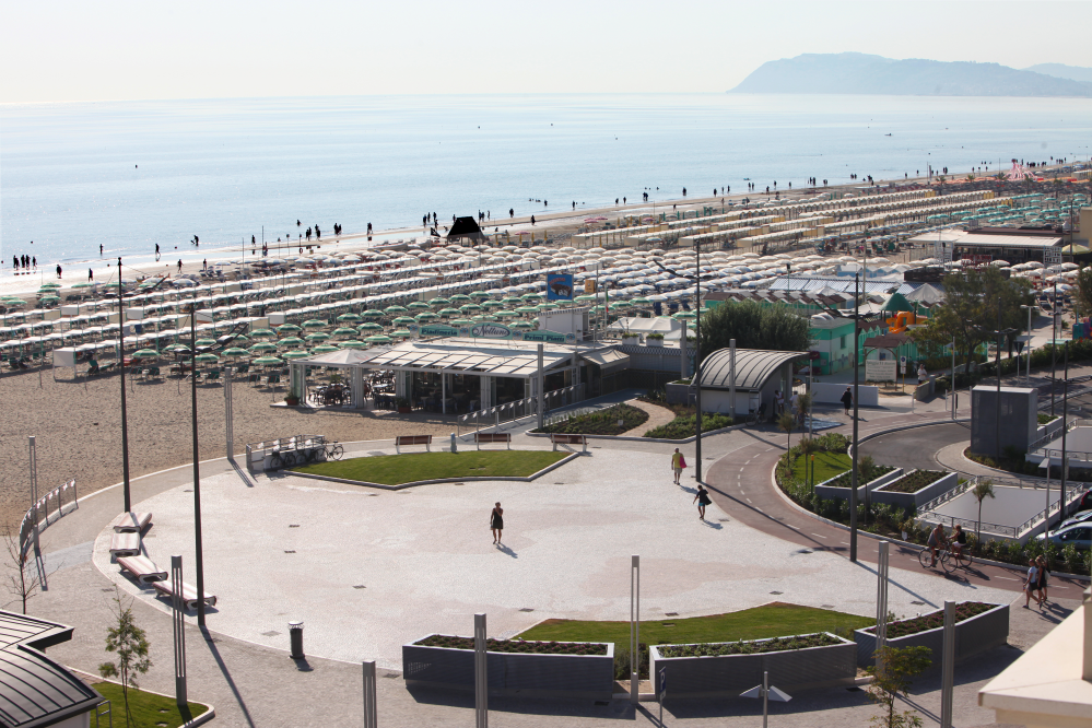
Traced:
<svg viewBox="0 0 1092 728">
<path fill-rule="evenodd" d="M 830 633 L 805 634 L 750 642 L 698 645 L 654 645 L 649 676 L 657 694 L 666 670 L 668 695 L 680 697 L 739 697 L 762 683 L 792 693 L 813 688 L 853 685 L 857 677 L 857 647 Z"/>
</svg>

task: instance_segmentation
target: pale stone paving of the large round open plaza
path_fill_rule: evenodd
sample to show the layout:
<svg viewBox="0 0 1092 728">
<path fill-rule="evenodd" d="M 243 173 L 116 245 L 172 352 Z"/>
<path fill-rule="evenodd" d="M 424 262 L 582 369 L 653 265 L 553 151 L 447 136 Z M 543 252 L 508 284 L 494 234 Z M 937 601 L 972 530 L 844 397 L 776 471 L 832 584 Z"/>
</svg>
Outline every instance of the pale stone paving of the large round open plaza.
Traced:
<svg viewBox="0 0 1092 728">
<path fill-rule="evenodd" d="M 642 556 L 646 620 L 770 601 L 873 613 L 870 564 L 721 521 L 716 506 L 702 524 L 692 486 L 676 486 L 668 463 L 666 454 L 596 449 L 528 483 L 394 492 L 298 477 L 226 472 L 203 479 L 206 588 L 220 598 L 209 627 L 283 649 L 286 623 L 303 620 L 308 655 L 375 659 L 400 669 L 403 643 L 431 632 L 469 635 L 474 612 L 489 614 L 493 636 L 549 618 L 627 620 L 631 554 Z M 149 555 L 168 564 L 172 554 L 181 554 L 192 583 L 189 490 L 179 485 L 136 508 L 155 515 L 145 539 Z M 505 508 L 504 548 L 492 544 L 489 531 L 496 501 Z M 154 591 L 119 575 L 108 545 L 104 530 L 95 565 L 166 612 Z M 900 615 L 944 599 L 1012 598 L 899 570 L 892 570 L 890 594 Z"/>
</svg>

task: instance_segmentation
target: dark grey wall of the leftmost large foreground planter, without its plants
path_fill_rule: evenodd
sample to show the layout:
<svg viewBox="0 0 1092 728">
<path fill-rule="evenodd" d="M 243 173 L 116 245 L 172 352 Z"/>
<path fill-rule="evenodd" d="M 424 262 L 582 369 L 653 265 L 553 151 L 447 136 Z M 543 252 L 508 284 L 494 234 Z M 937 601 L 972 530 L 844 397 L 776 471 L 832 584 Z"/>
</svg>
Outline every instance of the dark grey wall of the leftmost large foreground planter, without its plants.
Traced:
<svg viewBox="0 0 1092 728">
<path fill-rule="evenodd" d="M 490 695 L 609 701 L 614 692 L 614 644 L 606 644 L 606 655 L 486 653 Z M 473 692 L 474 650 L 402 645 L 402 677 L 407 688 Z"/>
</svg>

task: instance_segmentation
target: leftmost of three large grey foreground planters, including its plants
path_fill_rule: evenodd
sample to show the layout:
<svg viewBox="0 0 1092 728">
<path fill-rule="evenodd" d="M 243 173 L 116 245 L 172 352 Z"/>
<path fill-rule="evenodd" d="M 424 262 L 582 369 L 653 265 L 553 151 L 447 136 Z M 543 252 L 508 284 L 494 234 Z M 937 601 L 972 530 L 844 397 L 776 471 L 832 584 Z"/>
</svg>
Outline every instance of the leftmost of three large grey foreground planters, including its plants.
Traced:
<svg viewBox="0 0 1092 728">
<path fill-rule="evenodd" d="M 402 645 L 407 688 L 474 689 L 474 641 L 427 635 Z M 609 701 L 614 690 L 613 643 L 488 639 L 491 695 Z"/>
</svg>

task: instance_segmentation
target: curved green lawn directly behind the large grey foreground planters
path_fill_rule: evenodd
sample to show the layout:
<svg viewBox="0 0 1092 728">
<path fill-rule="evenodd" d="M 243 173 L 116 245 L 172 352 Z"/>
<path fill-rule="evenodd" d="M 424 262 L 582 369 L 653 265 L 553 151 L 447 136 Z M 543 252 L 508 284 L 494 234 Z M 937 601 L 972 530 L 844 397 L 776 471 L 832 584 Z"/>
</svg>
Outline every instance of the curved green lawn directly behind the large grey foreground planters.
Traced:
<svg viewBox="0 0 1092 728">
<path fill-rule="evenodd" d="M 642 622 L 641 642 L 649 645 L 735 642 L 835 631 L 846 636 L 847 630 L 852 633 L 852 630 L 874 622 L 876 620 L 867 617 L 829 609 L 774 603 L 728 614 Z M 665 626 L 668 624 L 674 626 Z M 524 639 L 613 642 L 615 645 L 626 645 L 630 639 L 630 623 L 547 620 L 518 636 Z"/>
</svg>

